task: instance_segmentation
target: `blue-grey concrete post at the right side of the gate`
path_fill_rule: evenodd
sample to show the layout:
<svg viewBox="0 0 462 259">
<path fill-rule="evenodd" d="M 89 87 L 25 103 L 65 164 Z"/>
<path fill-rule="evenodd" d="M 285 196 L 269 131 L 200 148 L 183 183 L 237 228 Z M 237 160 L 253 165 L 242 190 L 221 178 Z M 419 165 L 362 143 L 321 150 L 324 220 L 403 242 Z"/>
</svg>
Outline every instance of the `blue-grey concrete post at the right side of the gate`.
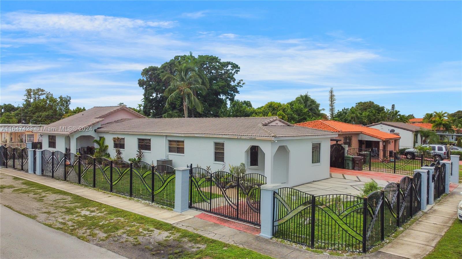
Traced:
<svg viewBox="0 0 462 259">
<path fill-rule="evenodd" d="M 274 192 L 282 186 L 280 184 L 264 184 L 260 187 L 260 236 L 271 238 L 273 236 L 274 222 Z"/>
</svg>

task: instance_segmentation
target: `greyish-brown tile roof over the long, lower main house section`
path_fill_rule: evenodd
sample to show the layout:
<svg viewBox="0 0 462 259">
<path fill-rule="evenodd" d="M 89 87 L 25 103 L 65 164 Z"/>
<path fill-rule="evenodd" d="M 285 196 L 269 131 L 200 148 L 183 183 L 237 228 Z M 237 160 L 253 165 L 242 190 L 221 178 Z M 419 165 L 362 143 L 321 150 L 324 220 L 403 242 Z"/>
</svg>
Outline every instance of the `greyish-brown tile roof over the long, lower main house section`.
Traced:
<svg viewBox="0 0 462 259">
<path fill-rule="evenodd" d="M 96 131 L 251 138 L 332 137 L 337 135 L 330 131 L 294 126 L 278 117 L 121 119 L 103 124 Z"/>
</svg>

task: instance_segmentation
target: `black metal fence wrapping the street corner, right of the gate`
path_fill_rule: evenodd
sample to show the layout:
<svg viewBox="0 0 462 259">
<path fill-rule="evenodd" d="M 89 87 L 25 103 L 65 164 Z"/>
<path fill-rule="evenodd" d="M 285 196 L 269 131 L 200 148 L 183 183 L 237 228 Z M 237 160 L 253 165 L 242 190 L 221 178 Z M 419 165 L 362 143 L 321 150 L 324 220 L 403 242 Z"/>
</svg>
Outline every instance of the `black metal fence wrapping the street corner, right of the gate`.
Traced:
<svg viewBox="0 0 462 259">
<path fill-rule="evenodd" d="M 275 237 L 317 249 L 365 253 L 420 210 L 420 173 L 367 197 L 274 192 Z"/>
</svg>

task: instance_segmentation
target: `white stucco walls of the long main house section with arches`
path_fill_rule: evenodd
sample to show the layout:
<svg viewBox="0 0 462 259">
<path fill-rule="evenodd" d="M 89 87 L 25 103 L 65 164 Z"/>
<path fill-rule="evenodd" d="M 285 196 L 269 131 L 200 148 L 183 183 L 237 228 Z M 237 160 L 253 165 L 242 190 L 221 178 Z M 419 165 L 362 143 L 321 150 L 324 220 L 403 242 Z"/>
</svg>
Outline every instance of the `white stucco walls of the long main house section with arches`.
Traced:
<svg viewBox="0 0 462 259">
<path fill-rule="evenodd" d="M 229 170 L 229 165 L 239 165 L 245 163 L 247 156 L 246 150 L 252 146 L 259 146 L 264 152 L 264 163 L 259 168 L 248 168 L 248 172 L 258 172 L 267 177 L 268 183 L 272 182 L 274 171 L 273 157 L 279 146 L 287 146 L 289 149 L 288 157 L 288 181 L 286 186 L 295 186 L 306 182 L 312 182 L 329 177 L 330 164 L 330 138 L 312 138 L 312 139 L 292 139 L 278 140 L 257 140 L 245 138 L 219 138 L 219 137 L 194 137 L 194 136 L 164 136 L 164 135 L 143 135 L 143 134 L 114 134 L 98 133 L 106 138 L 106 144 L 109 145 L 108 153 L 114 157 L 116 150 L 112 141 L 113 137 L 125 138 L 125 149 L 122 150 L 123 159 L 128 160 L 136 156 L 138 148 L 138 138 L 151 139 L 151 151 L 144 151 L 143 160 L 147 163 L 156 164 L 157 159 L 163 159 L 168 156 L 173 160 L 174 167 L 184 167 L 189 164 L 193 166 L 200 165 L 202 168 L 211 166 L 212 171 L 221 170 L 223 163 L 214 162 L 213 142 L 225 142 L 225 170 Z M 168 153 L 168 140 L 184 141 L 184 154 Z M 311 143 L 321 143 L 321 163 L 311 164 Z M 260 154 L 259 154 L 260 155 Z M 273 172 L 273 173 L 272 173 Z M 280 179 L 280 178 L 278 178 Z M 280 182 L 277 182 L 280 183 Z"/>
</svg>

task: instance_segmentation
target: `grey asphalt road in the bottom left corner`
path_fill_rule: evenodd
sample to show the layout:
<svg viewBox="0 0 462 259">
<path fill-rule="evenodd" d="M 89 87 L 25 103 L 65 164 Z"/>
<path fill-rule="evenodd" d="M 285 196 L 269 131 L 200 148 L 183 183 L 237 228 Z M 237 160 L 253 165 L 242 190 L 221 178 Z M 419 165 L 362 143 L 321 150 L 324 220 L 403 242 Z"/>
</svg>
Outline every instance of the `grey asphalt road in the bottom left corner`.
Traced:
<svg viewBox="0 0 462 259">
<path fill-rule="evenodd" d="M 18 258 L 125 258 L 75 236 L 54 230 L 0 206 L 0 257 Z"/>
</svg>

